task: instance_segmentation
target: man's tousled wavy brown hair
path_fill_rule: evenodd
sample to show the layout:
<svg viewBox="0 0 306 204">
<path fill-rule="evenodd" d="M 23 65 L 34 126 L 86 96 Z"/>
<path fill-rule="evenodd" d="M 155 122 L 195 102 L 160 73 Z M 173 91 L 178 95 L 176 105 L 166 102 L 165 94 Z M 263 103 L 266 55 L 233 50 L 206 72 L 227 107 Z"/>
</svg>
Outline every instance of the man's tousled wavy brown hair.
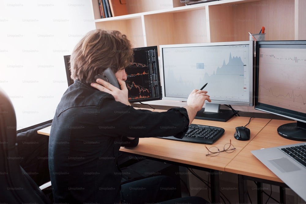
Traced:
<svg viewBox="0 0 306 204">
<path fill-rule="evenodd" d="M 73 49 L 71 78 L 90 83 L 106 68 L 110 67 L 116 73 L 133 60 L 132 45 L 126 35 L 119 31 L 92 30 Z"/>
</svg>

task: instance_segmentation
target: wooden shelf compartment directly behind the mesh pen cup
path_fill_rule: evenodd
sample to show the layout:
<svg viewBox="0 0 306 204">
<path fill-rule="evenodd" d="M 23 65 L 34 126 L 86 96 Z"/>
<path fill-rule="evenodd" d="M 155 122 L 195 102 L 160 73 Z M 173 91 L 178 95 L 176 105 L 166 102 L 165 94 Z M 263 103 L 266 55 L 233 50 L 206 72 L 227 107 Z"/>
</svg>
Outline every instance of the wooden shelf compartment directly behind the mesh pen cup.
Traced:
<svg viewBox="0 0 306 204">
<path fill-rule="evenodd" d="M 246 2 L 208 6 L 211 42 L 249 40 L 262 26 L 265 40 L 294 40 L 294 0 Z"/>
</svg>

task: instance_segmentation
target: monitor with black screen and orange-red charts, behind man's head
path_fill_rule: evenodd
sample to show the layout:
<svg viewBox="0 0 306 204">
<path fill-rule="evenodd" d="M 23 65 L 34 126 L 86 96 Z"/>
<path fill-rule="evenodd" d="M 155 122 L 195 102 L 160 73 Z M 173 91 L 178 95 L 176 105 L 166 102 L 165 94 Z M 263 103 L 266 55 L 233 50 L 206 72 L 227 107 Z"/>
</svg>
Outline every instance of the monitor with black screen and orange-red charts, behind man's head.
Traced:
<svg viewBox="0 0 306 204">
<path fill-rule="evenodd" d="M 157 46 L 133 48 L 134 62 L 125 68 L 129 90 L 129 102 L 144 102 L 162 99 Z M 64 56 L 68 86 L 70 78 L 70 55 Z"/>
</svg>

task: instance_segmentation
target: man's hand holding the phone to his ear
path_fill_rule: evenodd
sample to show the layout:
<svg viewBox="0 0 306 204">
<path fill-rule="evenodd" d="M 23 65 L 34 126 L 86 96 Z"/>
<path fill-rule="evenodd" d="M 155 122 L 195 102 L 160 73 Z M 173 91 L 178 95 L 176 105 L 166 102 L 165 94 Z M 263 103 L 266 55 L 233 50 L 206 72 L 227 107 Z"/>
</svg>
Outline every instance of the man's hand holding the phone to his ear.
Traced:
<svg viewBox="0 0 306 204">
<path fill-rule="evenodd" d="M 90 85 L 92 87 L 95 87 L 99 91 L 103 91 L 103 92 L 113 95 L 115 98 L 115 101 L 118 101 L 125 105 L 130 106 L 131 104 L 129 103 L 128 89 L 125 85 L 125 82 L 118 78 L 117 80 L 119 82 L 121 90 L 102 79 L 97 79 L 96 80 L 97 83 L 91 83 Z"/>
</svg>

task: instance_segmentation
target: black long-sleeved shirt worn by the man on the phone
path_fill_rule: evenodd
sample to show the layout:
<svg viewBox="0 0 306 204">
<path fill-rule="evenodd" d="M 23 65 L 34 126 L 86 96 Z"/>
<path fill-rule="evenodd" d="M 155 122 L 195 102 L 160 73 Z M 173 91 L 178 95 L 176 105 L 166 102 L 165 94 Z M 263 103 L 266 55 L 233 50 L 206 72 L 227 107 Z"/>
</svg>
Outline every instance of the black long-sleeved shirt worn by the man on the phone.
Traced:
<svg viewBox="0 0 306 204">
<path fill-rule="evenodd" d="M 134 109 L 76 80 L 64 93 L 51 125 L 54 203 L 119 203 L 120 146 L 136 146 L 140 137 L 176 135 L 188 124 L 185 108 L 162 113 Z"/>
</svg>

